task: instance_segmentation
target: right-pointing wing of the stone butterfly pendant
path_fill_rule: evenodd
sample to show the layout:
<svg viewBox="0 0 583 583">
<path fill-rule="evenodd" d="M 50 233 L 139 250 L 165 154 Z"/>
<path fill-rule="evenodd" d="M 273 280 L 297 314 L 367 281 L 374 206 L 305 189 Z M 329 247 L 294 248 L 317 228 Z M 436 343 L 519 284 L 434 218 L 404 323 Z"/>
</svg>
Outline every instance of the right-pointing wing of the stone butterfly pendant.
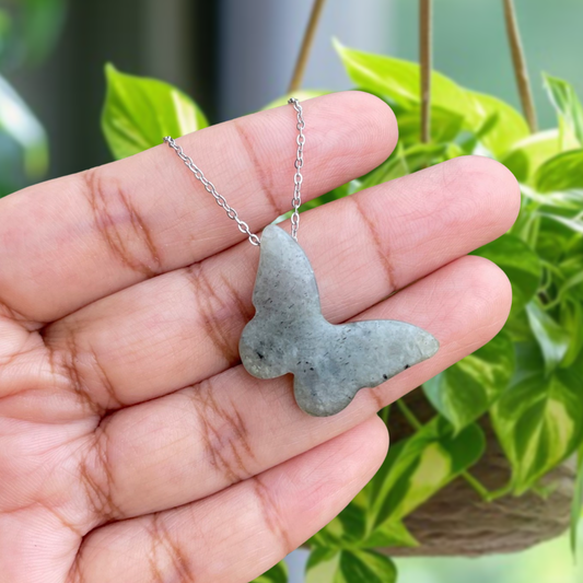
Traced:
<svg viewBox="0 0 583 583">
<path fill-rule="evenodd" d="M 431 334 L 405 322 L 326 324 L 317 334 L 319 349 L 305 346 L 292 370 L 298 405 L 317 417 L 341 411 L 361 388 L 384 383 L 439 349 Z"/>
</svg>

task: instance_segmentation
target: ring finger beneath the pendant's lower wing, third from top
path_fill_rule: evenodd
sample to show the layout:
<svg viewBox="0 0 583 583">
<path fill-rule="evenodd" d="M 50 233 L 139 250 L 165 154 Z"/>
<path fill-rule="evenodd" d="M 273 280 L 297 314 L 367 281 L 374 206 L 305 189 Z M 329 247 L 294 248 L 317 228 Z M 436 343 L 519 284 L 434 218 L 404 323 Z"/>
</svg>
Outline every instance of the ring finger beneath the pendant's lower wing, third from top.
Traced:
<svg viewBox="0 0 583 583">
<path fill-rule="evenodd" d="M 289 375 L 258 381 L 241 365 L 118 411 L 97 435 L 96 451 L 107 451 L 107 456 L 92 480 L 103 485 L 106 495 L 101 498 L 112 501 L 107 517 L 136 516 L 205 498 L 347 431 L 490 340 L 504 324 L 510 304 L 504 273 L 470 256 L 360 314 L 357 319 L 421 326 L 436 336 L 441 348 L 376 389 L 362 389 L 334 417 L 318 419 L 301 411 Z M 91 526 L 102 520 L 98 513 L 89 517 Z"/>
</svg>

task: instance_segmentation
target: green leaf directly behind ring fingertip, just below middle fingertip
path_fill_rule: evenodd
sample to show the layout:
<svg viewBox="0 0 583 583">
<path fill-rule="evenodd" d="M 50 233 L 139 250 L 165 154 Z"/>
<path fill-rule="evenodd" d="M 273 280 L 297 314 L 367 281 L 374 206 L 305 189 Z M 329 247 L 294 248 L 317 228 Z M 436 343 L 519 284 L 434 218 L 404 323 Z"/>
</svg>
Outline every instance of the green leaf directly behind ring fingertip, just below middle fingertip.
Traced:
<svg viewBox="0 0 583 583">
<path fill-rule="evenodd" d="M 541 278 L 538 255 L 521 238 L 505 234 L 476 249 L 473 255 L 486 257 L 506 273 L 512 284 L 512 311 L 523 310 L 534 298 Z"/>
</svg>

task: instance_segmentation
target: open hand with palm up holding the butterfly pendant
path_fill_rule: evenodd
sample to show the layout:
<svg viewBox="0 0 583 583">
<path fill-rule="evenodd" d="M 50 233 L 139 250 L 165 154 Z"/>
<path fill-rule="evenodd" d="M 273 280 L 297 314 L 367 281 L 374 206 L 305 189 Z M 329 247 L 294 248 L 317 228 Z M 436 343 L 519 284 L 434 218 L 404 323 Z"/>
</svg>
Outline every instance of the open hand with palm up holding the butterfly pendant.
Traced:
<svg viewBox="0 0 583 583">
<path fill-rule="evenodd" d="M 304 114 L 304 200 L 397 140 L 365 93 Z M 294 119 L 283 106 L 178 140 L 254 232 L 290 207 Z M 259 250 L 167 145 L 0 200 L 2 581 L 236 583 L 269 569 L 374 475 L 388 441 L 375 412 L 501 328 L 509 282 L 466 255 L 518 206 L 510 172 L 471 156 L 302 215 L 329 320 L 404 319 L 441 342 L 317 419 L 290 375 L 238 363 Z"/>
</svg>

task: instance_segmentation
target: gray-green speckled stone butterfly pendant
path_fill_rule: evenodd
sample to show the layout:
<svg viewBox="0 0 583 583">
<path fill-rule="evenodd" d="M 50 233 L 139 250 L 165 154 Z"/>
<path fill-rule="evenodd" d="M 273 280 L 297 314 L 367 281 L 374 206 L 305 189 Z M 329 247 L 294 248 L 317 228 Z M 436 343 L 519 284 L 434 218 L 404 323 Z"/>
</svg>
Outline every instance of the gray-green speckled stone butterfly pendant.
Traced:
<svg viewBox="0 0 583 583">
<path fill-rule="evenodd" d="M 438 340 L 412 324 L 330 324 L 322 315 L 316 278 L 298 242 L 269 225 L 260 249 L 256 314 L 241 335 L 241 359 L 257 378 L 292 373 L 295 400 L 305 412 L 335 415 L 361 388 L 377 386 L 438 351 Z"/>
</svg>

